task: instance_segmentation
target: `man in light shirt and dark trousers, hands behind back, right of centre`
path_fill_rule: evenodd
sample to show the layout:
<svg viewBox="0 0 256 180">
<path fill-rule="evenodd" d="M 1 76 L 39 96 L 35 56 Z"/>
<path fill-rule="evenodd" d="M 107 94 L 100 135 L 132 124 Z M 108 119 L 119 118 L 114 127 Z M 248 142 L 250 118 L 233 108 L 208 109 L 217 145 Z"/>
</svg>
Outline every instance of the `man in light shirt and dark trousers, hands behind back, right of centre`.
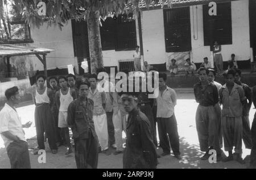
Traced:
<svg viewBox="0 0 256 180">
<path fill-rule="evenodd" d="M 156 117 L 158 121 L 160 146 L 163 149 L 163 153 L 161 155 L 170 155 L 172 148 L 174 156 L 178 160 L 181 160 L 179 133 L 177 132 L 177 120 L 174 114 L 177 97 L 175 91 L 166 85 L 166 80 L 167 75 L 159 73 L 159 95 L 156 98 Z"/>
</svg>

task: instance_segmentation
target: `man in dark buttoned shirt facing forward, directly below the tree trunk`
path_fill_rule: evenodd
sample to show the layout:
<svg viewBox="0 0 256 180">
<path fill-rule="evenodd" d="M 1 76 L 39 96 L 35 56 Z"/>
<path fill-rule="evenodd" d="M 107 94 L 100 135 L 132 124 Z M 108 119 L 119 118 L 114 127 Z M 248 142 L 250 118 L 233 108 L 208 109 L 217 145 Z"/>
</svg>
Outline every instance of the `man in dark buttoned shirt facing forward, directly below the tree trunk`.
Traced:
<svg viewBox="0 0 256 180">
<path fill-rule="evenodd" d="M 98 138 L 93 124 L 93 101 L 88 99 L 89 82 L 80 82 L 79 99 L 68 107 L 68 125 L 72 128 L 78 169 L 96 169 Z"/>
</svg>

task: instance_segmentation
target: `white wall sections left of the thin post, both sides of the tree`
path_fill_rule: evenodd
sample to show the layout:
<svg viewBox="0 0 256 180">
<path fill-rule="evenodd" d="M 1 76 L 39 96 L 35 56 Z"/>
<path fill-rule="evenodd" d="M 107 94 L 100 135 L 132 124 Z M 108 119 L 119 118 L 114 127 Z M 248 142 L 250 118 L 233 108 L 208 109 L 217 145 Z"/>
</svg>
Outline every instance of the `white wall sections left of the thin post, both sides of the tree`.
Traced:
<svg viewBox="0 0 256 180">
<path fill-rule="evenodd" d="M 137 44 L 139 44 L 138 22 L 137 28 Z M 35 41 L 36 47 L 45 47 L 54 49 L 55 51 L 47 55 L 47 69 L 63 69 L 67 65 L 77 65 L 77 59 L 74 57 L 72 24 L 71 21 L 65 24 L 62 31 L 59 27 L 48 27 L 44 24 L 43 27 L 31 29 L 32 39 Z M 133 59 L 134 51 L 102 51 L 104 66 L 118 66 L 118 60 Z M 64 58 L 60 58 L 64 57 Z M 36 58 L 34 60 L 34 69 L 43 70 L 42 63 Z"/>
</svg>

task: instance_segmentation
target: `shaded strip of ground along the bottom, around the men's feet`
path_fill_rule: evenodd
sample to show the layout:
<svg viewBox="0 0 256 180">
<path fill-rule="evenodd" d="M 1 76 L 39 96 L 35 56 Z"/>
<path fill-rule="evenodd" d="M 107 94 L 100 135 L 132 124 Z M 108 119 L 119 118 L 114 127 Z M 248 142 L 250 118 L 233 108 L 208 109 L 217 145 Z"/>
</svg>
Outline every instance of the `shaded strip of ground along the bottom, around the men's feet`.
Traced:
<svg viewBox="0 0 256 180">
<path fill-rule="evenodd" d="M 125 141 L 125 139 L 123 139 Z M 32 149 L 37 146 L 36 138 L 28 140 L 30 148 L 30 161 L 32 169 L 75 169 L 75 154 L 71 153 L 68 156 L 65 155 L 65 146 L 60 146 L 57 154 L 52 154 L 49 150 L 48 143 L 46 144 L 46 164 L 39 164 L 38 158 L 40 155 L 32 154 Z M 75 149 L 73 148 L 73 151 Z M 249 165 L 249 159 L 247 158 L 246 165 L 240 165 L 236 161 L 231 162 L 217 162 L 217 164 L 210 164 L 208 161 L 200 160 L 202 153 L 197 145 L 190 145 L 185 141 L 183 137 L 180 138 L 180 151 L 182 160 L 177 160 L 172 154 L 170 156 L 164 156 L 159 158 L 158 169 L 244 169 Z M 114 149 L 110 149 L 112 153 L 110 156 L 99 153 L 98 169 L 122 169 L 123 154 L 114 155 Z M 162 149 L 157 149 L 158 154 L 162 153 Z M 0 169 L 9 169 L 10 162 L 5 148 L 0 149 Z"/>
</svg>

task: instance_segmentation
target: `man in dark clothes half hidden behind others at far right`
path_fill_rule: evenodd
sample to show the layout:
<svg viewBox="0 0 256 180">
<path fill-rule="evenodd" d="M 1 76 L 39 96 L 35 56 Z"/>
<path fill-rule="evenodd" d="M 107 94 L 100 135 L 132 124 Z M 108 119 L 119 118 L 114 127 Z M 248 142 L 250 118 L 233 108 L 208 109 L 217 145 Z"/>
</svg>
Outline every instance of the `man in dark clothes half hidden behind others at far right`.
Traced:
<svg viewBox="0 0 256 180">
<path fill-rule="evenodd" d="M 241 70 L 240 69 L 234 69 L 236 71 L 236 76 L 234 77 L 234 82 L 238 85 L 243 87 L 243 91 L 245 91 L 245 97 L 246 102 L 243 105 L 243 143 L 245 144 L 246 149 L 251 149 L 252 142 L 251 142 L 251 129 L 250 129 L 250 121 L 249 121 L 249 112 L 251 108 L 251 104 L 253 103 L 251 101 L 251 89 L 248 85 L 241 82 Z"/>
</svg>

